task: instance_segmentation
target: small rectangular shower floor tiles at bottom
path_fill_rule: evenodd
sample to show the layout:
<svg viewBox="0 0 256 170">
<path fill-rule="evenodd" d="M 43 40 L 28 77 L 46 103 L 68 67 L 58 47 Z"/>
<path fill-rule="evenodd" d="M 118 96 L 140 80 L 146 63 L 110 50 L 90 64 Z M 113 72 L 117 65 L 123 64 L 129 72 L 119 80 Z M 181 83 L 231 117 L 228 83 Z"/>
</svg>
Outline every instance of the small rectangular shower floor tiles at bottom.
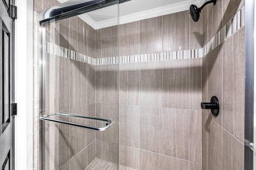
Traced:
<svg viewBox="0 0 256 170">
<path fill-rule="evenodd" d="M 87 166 L 85 170 L 117 170 L 117 164 L 96 158 L 94 159 L 94 161 L 92 161 L 92 163 L 89 166 Z M 119 170 L 134 170 L 134 169 L 120 165 Z"/>
</svg>

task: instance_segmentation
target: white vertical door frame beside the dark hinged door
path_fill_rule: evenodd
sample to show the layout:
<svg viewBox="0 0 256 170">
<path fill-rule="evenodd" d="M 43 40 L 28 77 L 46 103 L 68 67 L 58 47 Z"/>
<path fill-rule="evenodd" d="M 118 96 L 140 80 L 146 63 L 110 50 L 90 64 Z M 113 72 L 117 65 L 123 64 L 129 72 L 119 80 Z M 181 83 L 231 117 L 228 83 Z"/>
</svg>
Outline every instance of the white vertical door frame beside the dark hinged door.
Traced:
<svg viewBox="0 0 256 170">
<path fill-rule="evenodd" d="M 14 21 L 14 119 L 15 170 L 33 167 L 33 0 L 15 0 Z M 36 141 L 36 139 L 34 140 Z M 35 148 L 36 149 L 36 148 Z"/>
</svg>

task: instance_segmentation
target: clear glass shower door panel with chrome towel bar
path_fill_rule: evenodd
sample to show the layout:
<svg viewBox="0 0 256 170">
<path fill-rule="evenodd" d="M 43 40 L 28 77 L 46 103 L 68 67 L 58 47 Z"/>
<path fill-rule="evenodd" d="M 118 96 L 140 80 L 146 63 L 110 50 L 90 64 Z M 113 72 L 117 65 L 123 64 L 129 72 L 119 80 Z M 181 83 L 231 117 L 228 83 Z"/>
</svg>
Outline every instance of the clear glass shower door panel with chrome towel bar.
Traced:
<svg viewBox="0 0 256 170">
<path fill-rule="evenodd" d="M 118 168 L 118 1 L 79 14 L 40 23 L 43 170 Z"/>
</svg>

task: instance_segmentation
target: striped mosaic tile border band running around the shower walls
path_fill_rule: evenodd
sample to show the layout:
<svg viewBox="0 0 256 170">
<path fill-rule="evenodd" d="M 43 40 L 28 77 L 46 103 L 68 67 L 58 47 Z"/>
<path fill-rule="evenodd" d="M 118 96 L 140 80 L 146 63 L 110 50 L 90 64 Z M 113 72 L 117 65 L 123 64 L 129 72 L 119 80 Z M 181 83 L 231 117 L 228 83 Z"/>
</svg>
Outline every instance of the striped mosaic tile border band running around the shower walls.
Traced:
<svg viewBox="0 0 256 170">
<path fill-rule="evenodd" d="M 119 63 L 140 63 L 140 62 L 150 62 L 150 61 L 166 61 L 166 60 L 176 60 L 176 59 L 193 59 L 202 58 L 207 55 L 210 51 L 218 47 L 221 43 L 226 41 L 231 37 L 236 31 L 245 25 L 245 6 L 243 6 L 236 15 L 228 21 L 228 23 L 202 48 L 202 49 L 192 49 L 183 51 L 170 51 L 162 53 L 151 53 L 143 55 L 128 55 L 121 57 L 108 57 L 101 59 L 94 59 L 87 55 L 83 55 L 60 47 L 50 42 L 46 42 L 46 53 L 57 55 L 60 57 L 65 57 L 68 59 L 92 64 L 92 65 L 105 65 L 105 64 L 118 64 Z"/>
</svg>

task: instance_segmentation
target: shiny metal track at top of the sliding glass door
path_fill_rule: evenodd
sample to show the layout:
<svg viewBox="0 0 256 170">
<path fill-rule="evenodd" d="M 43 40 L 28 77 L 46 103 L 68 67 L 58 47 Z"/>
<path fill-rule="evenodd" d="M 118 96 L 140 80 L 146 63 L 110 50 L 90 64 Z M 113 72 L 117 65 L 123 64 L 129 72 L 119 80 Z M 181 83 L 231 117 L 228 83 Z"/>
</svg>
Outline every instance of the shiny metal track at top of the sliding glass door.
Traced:
<svg viewBox="0 0 256 170">
<path fill-rule="evenodd" d="M 130 0 L 69 0 L 38 12 L 37 21 L 50 23 Z"/>
</svg>

